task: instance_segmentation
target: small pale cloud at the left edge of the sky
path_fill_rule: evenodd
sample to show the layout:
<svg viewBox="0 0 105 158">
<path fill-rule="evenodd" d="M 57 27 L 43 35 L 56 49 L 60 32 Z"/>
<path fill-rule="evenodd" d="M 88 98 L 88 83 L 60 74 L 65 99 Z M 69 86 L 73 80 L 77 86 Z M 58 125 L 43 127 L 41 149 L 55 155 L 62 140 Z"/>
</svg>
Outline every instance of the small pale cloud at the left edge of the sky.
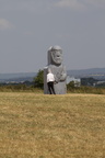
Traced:
<svg viewBox="0 0 105 158">
<path fill-rule="evenodd" d="M 13 27 L 13 25 L 5 19 L 0 19 L 0 30 L 8 30 Z"/>
</svg>

